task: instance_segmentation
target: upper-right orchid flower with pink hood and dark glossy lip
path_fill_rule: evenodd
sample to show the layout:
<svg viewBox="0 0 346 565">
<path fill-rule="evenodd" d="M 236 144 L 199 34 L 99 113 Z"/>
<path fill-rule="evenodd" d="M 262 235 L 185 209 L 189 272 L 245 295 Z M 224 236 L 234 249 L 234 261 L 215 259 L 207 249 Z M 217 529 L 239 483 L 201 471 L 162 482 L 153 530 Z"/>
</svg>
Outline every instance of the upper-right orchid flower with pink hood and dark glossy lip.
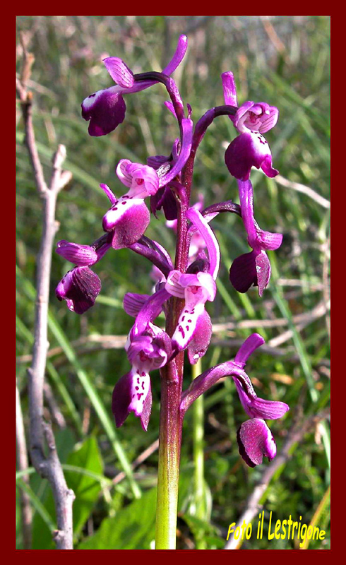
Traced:
<svg viewBox="0 0 346 565">
<path fill-rule="evenodd" d="M 222 86 L 226 104 L 237 106 L 237 90 L 233 73 L 222 73 Z M 251 167 L 261 168 L 267 177 L 279 172 L 272 166 L 268 141 L 262 133 L 272 129 L 278 121 L 279 111 L 266 102 L 244 102 L 234 116 L 229 116 L 240 133 L 229 144 L 225 162 L 229 172 L 242 181 L 250 177 Z"/>
</svg>

